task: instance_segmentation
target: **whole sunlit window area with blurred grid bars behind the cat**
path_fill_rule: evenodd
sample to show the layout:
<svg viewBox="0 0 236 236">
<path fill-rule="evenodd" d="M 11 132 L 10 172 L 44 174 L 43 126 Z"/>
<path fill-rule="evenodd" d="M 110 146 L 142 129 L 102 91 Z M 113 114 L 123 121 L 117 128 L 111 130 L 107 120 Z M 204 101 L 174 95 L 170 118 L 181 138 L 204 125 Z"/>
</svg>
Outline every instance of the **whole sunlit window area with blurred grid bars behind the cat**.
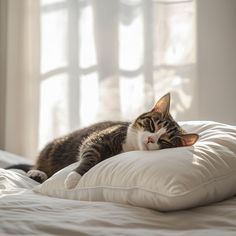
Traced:
<svg viewBox="0 0 236 236">
<path fill-rule="evenodd" d="M 197 113 L 194 1 L 105 2 L 41 0 L 40 147 L 96 121 L 131 120 L 166 92 L 177 119 Z"/>
</svg>

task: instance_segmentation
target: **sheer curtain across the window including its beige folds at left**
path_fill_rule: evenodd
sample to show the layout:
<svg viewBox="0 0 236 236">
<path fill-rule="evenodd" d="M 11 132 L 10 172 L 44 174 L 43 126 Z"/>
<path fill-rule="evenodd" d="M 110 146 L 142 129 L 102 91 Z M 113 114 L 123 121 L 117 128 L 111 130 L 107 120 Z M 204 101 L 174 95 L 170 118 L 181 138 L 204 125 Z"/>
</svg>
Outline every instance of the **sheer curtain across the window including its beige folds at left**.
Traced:
<svg viewBox="0 0 236 236">
<path fill-rule="evenodd" d="M 8 150 L 33 157 L 81 126 L 130 120 L 166 92 L 178 120 L 196 119 L 195 1 L 5 2 Z"/>
</svg>

